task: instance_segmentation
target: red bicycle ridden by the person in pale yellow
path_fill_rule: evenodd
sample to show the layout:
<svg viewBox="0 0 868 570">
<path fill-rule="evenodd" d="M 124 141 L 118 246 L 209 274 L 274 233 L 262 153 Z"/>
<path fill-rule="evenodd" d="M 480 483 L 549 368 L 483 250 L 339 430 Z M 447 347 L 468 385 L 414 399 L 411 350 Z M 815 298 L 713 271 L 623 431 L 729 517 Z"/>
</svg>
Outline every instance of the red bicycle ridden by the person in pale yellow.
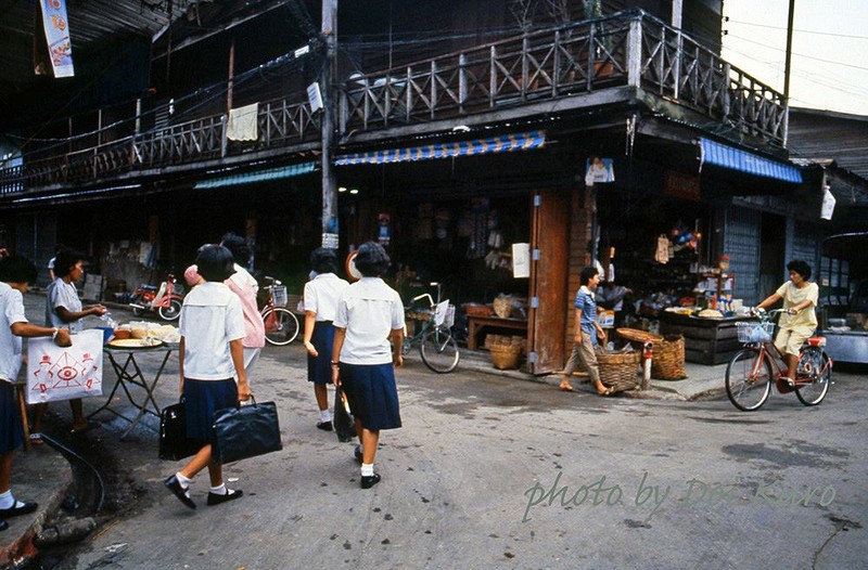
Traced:
<svg viewBox="0 0 868 570">
<path fill-rule="evenodd" d="M 771 341 L 775 332 L 773 318 L 781 312 L 783 309 L 776 309 L 760 313 L 758 322 L 736 323 L 739 341 L 744 342 L 744 348 L 732 357 L 726 367 L 726 394 L 739 410 L 758 410 L 768 399 L 771 384 L 787 375 L 783 354 Z M 777 385 L 778 391 L 794 391 L 805 405 L 820 403 L 832 383 L 832 359 L 826 354 L 825 346 L 825 337 L 808 338 L 799 351 L 799 367 L 793 385 Z"/>
</svg>

